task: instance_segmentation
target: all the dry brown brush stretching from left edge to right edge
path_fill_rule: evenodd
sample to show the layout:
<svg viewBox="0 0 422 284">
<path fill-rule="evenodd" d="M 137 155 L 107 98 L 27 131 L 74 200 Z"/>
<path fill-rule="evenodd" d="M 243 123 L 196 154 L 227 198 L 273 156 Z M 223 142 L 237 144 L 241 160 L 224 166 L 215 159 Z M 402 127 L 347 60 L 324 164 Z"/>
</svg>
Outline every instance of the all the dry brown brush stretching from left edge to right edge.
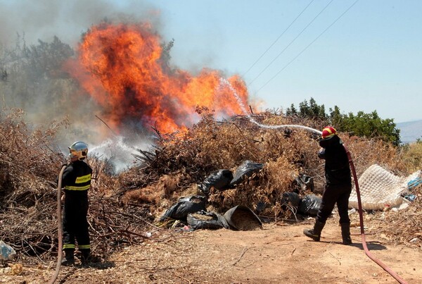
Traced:
<svg viewBox="0 0 422 284">
<path fill-rule="evenodd" d="M 45 261 L 56 256 L 57 220 L 53 212 L 57 175 L 65 159 L 54 145 L 56 133 L 67 121 L 32 129 L 23 122 L 23 116 L 20 110 L 3 111 L 0 116 L 0 238 L 17 250 L 18 257 Z M 270 113 L 254 119 L 269 125 L 300 123 Z M 316 129 L 324 125 L 312 121 L 300 124 Z M 378 140 L 345 133 L 340 137 L 352 153 L 358 176 L 373 163 L 397 175 L 408 175 L 421 159 L 420 152 L 397 149 Z M 215 121 L 204 111 L 203 119 L 191 130 L 161 135 L 151 152 L 139 153 L 141 166 L 120 175 L 108 175 L 108 161 L 91 157 L 92 245 L 106 258 L 115 249 L 143 242 L 143 233 L 159 230 L 153 222 L 179 197 L 198 194 L 198 184 L 207 175 L 219 169 L 235 171 L 246 160 L 262 163 L 262 170 L 234 188 L 212 188 L 209 208 L 222 213 L 242 204 L 256 212 L 260 207 L 260 216 L 283 218 L 286 212 L 281 209 L 281 197 L 292 190 L 299 173 L 312 176 L 316 193 L 322 191 L 324 162 L 316 156 L 318 149 L 316 137 L 305 130 L 260 128 L 245 117 Z M 418 202 L 399 212 L 397 219 L 390 215 L 392 219 L 383 223 L 383 232 L 390 240 L 409 242 L 417 235 L 414 230 L 421 226 L 420 187 L 417 192 Z"/>
</svg>

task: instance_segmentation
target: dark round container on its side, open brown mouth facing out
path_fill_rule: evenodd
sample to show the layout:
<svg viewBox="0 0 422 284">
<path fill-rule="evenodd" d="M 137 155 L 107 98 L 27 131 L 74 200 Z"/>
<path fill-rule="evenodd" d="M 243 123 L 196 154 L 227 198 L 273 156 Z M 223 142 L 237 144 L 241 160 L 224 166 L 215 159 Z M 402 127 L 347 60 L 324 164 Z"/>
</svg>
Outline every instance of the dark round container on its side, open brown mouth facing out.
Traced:
<svg viewBox="0 0 422 284">
<path fill-rule="evenodd" d="M 255 230 L 262 228 L 262 221 L 247 206 L 238 205 L 224 213 L 224 218 L 234 230 Z"/>
</svg>

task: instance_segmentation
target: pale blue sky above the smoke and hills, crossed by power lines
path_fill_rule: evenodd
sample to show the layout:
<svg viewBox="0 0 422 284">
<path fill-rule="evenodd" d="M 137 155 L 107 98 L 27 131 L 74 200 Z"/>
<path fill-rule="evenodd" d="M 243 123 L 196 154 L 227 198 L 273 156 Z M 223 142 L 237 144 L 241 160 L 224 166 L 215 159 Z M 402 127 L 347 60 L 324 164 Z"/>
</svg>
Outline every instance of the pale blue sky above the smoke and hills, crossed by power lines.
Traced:
<svg viewBox="0 0 422 284">
<path fill-rule="evenodd" d="M 101 18 L 131 14 L 152 19 L 165 41 L 174 39 L 175 66 L 242 75 L 250 97 L 270 109 L 313 97 L 327 111 L 339 106 L 344 113 L 376 110 L 395 123 L 421 120 L 422 1 L 354 3 L 0 0 L 8 15 L 0 19 L 0 40 L 10 43 L 25 31 L 28 42 L 58 35 L 75 44 Z"/>
</svg>

